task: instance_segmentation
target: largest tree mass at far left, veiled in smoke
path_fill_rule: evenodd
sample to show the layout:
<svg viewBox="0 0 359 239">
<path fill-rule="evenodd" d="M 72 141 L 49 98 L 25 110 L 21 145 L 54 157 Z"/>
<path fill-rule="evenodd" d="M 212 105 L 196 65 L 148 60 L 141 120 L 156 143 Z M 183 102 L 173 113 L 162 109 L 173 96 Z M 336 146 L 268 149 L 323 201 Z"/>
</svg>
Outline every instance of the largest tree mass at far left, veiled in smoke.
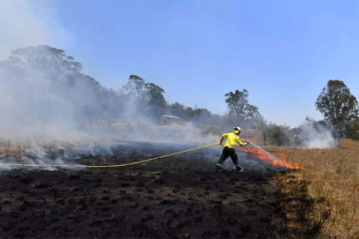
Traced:
<svg viewBox="0 0 359 239">
<path fill-rule="evenodd" d="M 118 112 L 111 100 L 120 105 L 117 93 L 81 73 L 82 64 L 64 50 L 47 45 L 18 48 L 0 62 L 0 68 L 11 96 L 16 96 L 14 102 L 22 105 L 29 122 L 83 124 L 86 118 L 109 118 Z"/>
</svg>

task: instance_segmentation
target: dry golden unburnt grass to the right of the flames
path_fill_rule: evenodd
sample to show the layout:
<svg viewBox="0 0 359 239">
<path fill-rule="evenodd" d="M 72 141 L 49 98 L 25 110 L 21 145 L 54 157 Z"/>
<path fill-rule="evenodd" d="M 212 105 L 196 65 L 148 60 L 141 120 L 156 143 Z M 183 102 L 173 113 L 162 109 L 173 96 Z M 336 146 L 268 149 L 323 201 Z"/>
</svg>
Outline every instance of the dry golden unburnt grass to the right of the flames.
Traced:
<svg viewBox="0 0 359 239">
<path fill-rule="evenodd" d="M 297 183 L 308 182 L 313 199 L 312 220 L 321 221 L 322 235 L 333 238 L 359 238 L 359 142 L 343 139 L 338 149 L 295 149 L 266 147 L 275 156 L 281 153 L 291 163 L 304 166 L 292 173 Z M 304 179 L 304 180 L 302 180 Z M 276 180 L 283 191 L 291 192 L 288 177 Z"/>
</svg>

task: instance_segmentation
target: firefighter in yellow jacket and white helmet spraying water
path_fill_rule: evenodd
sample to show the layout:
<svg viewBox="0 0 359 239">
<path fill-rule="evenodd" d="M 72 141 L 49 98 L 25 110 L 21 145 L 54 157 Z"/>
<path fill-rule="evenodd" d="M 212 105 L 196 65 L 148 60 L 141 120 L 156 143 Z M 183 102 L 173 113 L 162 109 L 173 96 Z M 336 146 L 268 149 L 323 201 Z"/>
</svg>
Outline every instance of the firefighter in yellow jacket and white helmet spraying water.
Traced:
<svg viewBox="0 0 359 239">
<path fill-rule="evenodd" d="M 239 138 L 239 134 L 241 133 L 241 128 L 239 127 L 234 127 L 233 128 L 233 133 L 224 133 L 222 135 L 222 138 L 220 140 L 220 144 L 223 144 L 223 139 L 227 138 L 226 143 L 224 145 L 223 148 L 223 152 L 221 157 L 219 158 L 219 161 L 216 165 L 215 171 L 218 172 L 219 169 L 222 167 L 222 164 L 224 163 L 224 161 L 230 157 L 234 163 L 234 165 L 236 165 L 236 170 L 240 173 L 243 172 L 243 168 L 241 168 L 241 166 L 239 166 L 238 164 L 238 155 L 236 153 L 236 150 L 234 149 L 234 145 L 236 143 L 238 143 L 241 146 L 246 146 L 249 144 L 249 142 L 247 140 L 245 144 L 242 143 L 241 139 Z"/>
</svg>

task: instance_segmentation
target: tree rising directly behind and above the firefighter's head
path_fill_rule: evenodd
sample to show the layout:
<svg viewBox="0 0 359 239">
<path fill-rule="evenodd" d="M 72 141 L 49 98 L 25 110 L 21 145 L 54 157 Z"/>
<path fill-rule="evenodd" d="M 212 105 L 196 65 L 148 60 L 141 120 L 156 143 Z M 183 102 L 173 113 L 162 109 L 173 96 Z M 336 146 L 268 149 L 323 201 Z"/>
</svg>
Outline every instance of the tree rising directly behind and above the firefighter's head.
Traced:
<svg viewBox="0 0 359 239">
<path fill-rule="evenodd" d="M 228 112 L 230 114 L 237 115 L 241 121 L 252 120 L 255 117 L 260 116 L 258 108 L 248 103 L 248 91 L 236 90 L 234 93 L 229 92 L 224 95 L 227 97 L 225 102 L 228 106 Z"/>
</svg>

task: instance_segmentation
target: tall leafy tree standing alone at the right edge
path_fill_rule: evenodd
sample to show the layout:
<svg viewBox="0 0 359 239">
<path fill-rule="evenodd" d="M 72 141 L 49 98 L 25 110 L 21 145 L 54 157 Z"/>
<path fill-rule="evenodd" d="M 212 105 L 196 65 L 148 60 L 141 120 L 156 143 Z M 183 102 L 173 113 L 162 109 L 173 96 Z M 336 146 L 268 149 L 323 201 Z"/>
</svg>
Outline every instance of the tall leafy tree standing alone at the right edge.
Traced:
<svg viewBox="0 0 359 239">
<path fill-rule="evenodd" d="M 329 80 L 318 96 L 315 106 L 324 121 L 334 128 L 334 138 L 340 146 L 343 131 L 358 116 L 358 101 L 341 80 Z"/>
</svg>

